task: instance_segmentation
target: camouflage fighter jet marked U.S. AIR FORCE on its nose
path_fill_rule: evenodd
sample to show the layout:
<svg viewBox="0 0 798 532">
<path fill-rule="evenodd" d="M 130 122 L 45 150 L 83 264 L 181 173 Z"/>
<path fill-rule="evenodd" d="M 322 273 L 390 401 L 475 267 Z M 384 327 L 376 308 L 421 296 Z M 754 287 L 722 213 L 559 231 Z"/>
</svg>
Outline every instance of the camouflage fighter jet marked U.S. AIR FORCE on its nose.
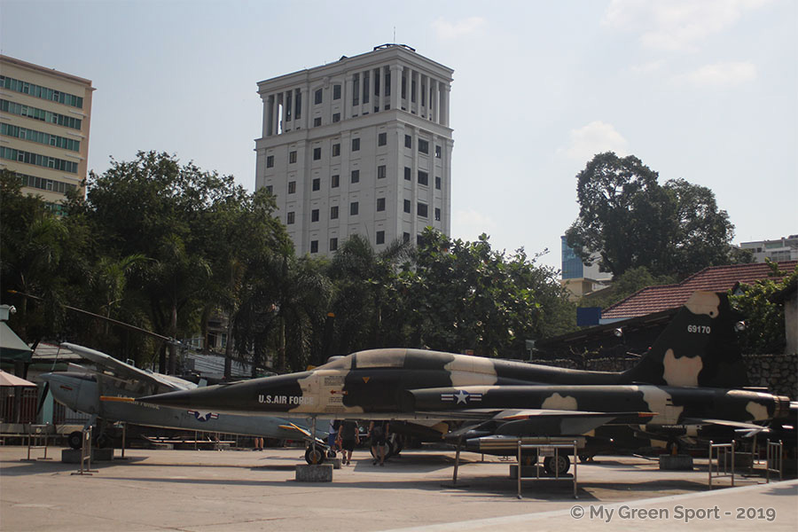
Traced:
<svg viewBox="0 0 798 532">
<path fill-rule="evenodd" d="M 584 436 L 607 425 L 651 434 L 707 425 L 761 430 L 757 424 L 785 416 L 790 402 L 745 389 L 735 325 L 724 293 L 696 292 L 626 372 L 386 348 L 309 372 L 137 401 L 313 419 L 461 419 L 470 423 L 450 438 L 496 454 L 507 454 L 520 437 Z"/>
</svg>

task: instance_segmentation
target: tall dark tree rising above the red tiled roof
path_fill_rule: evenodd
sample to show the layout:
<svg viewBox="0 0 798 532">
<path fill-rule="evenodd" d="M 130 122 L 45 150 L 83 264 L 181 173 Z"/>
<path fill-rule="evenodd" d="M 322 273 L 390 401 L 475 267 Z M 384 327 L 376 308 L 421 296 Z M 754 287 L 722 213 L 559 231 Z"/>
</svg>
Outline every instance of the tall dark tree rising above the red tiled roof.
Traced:
<svg viewBox="0 0 798 532">
<path fill-rule="evenodd" d="M 576 176 L 579 216 L 567 244 L 583 261 L 620 276 L 645 266 L 654 276 L 684 278 L 730 262 L 734 226 L 715 194 L 684 179 L 657 183 L 637 157 L 599 153 Z"/>
</svg>

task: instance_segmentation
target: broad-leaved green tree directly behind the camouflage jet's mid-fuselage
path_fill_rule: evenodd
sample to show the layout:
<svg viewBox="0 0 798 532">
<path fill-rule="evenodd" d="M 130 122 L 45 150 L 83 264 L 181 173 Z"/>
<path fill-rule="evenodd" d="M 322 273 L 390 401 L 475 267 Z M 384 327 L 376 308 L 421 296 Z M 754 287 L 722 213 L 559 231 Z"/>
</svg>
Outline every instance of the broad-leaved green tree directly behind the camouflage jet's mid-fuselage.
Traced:
<svg viewBox="0 0 798 532">
<path fill-rule="evenodd" d="M 507 256 L 427 229 L 416 261 L 397 279 L 408 344 L 481 356 L 519 357 L 525 340 L 565 332 L 574 306 L 555 278 L 523 250 Z"/>
</svg>

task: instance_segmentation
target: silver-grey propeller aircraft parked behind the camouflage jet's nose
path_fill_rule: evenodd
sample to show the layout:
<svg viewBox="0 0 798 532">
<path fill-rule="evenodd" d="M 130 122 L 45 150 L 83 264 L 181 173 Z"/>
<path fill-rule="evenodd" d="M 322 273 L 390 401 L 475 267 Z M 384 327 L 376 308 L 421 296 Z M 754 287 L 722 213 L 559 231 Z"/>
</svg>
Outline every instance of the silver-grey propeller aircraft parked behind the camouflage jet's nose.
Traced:
<svg viewBox="0 0 798 532">
<path fill-rule="evenodd" d="M 70 343 L 64 343 L 62 346 L 93 362 L 97 370 L 70 364 L 69 371 L 45 373 L 42 379 L 47 383 L 46 387 L 51 390 L 56 401 L 74 411 L 91 416 L 87 426 L 101 419 L 106 422 L 122 421 L 161 428 L 310 440 L 310 431 L 296 419 L 169 408 L 151 403 L 132 402 L 130 398 L 133 397 L 187 391 L 198 386 L 173 375 L 139 369 L 94 349 Z M 107 442 L 107 435 L 102 430 L 98 433 L 98 443 Z M 324 431 L 317 430 L 317 444 L 322 443 L 326 435 Z M 69 444 L 72 447 L 80 447 L 81 442 L 80 432 L 69 435 Z"/>
</svg>

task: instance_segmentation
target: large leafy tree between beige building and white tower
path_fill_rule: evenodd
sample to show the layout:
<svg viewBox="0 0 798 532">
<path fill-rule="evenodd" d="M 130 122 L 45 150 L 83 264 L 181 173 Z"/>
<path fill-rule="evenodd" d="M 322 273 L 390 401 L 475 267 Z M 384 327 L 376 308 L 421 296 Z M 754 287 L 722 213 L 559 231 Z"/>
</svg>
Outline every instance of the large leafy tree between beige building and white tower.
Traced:
<svg viewBox="0 0 798 532">
<path fill-rule="evenodd" d="M 223 305 L 218 283 L 230 278 L 221 263 L 230 265 L 236 253 L 219 253 L 219 246 L 240 250 L 242 245 L 240 238 L 227 239 L 218 226 L 229 218 L 220 214 L 223 206 L 246 198 L 232 176 L 181 165 L 167 153 L 139 152 L 135 160 L 112 160 L 111 168 L 101 176 L 91 173 L 89 181 L 86 202 L 74 210 L 98 231 L 104 254 L 145 255 L 146 267 L 129 288 L 142 294 L 155 332 L 191 336 L 200 331 L 209 300 L 230 307 L 229 301 Z M 161 368 L 174 372 L 176 348 L 170 346 L 168 364 L 164 348 Z"/>
</svg>

